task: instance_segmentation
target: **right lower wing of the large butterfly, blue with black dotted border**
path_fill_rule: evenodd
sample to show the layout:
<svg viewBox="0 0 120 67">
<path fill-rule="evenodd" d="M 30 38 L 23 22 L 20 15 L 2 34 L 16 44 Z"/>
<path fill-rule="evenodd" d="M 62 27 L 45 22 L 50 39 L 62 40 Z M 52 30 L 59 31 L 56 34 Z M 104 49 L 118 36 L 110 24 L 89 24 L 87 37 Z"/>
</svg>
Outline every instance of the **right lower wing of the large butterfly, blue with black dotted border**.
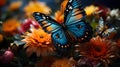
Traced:
<svg viewBox="0 0 120 67">
<path fill-rule="evenodd" d="M 92 28 L 84 21 L 79 21 L 79 23 L 67 27 L 68 31 L 80 42 L 86 42 L 92 37 Z"/>
</svg>

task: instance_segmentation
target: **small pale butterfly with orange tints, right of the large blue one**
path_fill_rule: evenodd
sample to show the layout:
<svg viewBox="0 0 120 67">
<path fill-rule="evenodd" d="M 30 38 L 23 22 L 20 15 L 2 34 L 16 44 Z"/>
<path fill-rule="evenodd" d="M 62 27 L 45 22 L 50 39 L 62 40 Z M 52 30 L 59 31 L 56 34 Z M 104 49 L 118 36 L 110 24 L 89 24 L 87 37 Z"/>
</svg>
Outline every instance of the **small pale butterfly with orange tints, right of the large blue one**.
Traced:
<svg viewBox="0 0 120 67">
<path fill-rule="evenodd" d="M 115 27 L 107 27 L 107 24 L 105 24 L 104 20 L 101 17 L 96 28 L 96 32 L 103 37 L 109 37 L 112 32 L 116 32 Z"/>
</svg>

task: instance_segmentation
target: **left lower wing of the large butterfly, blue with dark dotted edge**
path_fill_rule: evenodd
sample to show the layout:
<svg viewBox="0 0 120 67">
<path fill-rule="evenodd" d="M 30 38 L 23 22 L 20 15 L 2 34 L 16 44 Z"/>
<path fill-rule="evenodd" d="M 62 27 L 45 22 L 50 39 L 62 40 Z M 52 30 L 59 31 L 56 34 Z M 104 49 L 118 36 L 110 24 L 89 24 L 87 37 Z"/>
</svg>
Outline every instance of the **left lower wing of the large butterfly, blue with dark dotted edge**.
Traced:
<svg viewBox="0 0 120 67">
<path fill-rule="evenodd" d="M 57 30 L 52 33 L 52 39 L 55 47 L 57 47 L 58 51 L 66 51 L 69 47 L 67 37 L 65 32 L 62 29 Z"/>
</svg>

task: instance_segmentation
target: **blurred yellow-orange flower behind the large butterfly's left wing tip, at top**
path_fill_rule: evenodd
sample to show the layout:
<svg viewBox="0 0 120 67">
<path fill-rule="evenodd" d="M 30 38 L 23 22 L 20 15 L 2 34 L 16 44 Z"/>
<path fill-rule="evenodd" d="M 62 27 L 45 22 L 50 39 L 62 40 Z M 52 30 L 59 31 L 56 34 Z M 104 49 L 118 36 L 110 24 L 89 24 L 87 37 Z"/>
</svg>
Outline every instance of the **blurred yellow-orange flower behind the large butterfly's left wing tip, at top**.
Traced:
<svg viewBox="0 0 120 67">
<path fill-rule="evenodd" d="M 46 6 L 45 3 L 38 1 L 31 1 L 27 6 L 25 6 L 24 11 L 28 17 L 31 17 L 33 12 L 41 12 L 44 14 L 50 14 L 51 9 Z"/>
</svg>

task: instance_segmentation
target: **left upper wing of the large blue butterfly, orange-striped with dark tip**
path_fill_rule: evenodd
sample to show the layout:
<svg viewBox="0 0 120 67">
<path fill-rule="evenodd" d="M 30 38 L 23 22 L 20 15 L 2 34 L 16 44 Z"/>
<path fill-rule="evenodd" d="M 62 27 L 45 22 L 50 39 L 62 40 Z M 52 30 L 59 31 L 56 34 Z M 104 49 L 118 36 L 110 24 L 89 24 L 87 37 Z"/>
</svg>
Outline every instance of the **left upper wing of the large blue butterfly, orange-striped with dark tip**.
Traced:
<svg viewBox="0 0 120 67">
<path fill-rule="evenodd" d="M 57 24 L 55 20 L 53 20 L 49 16 L 46 16 L 45 14 L 35 12 L 33 16 L 41 25 L 41 27 L 48 33 L 55 32 L 61 28 L 61 26 Z"/>
</svg>

